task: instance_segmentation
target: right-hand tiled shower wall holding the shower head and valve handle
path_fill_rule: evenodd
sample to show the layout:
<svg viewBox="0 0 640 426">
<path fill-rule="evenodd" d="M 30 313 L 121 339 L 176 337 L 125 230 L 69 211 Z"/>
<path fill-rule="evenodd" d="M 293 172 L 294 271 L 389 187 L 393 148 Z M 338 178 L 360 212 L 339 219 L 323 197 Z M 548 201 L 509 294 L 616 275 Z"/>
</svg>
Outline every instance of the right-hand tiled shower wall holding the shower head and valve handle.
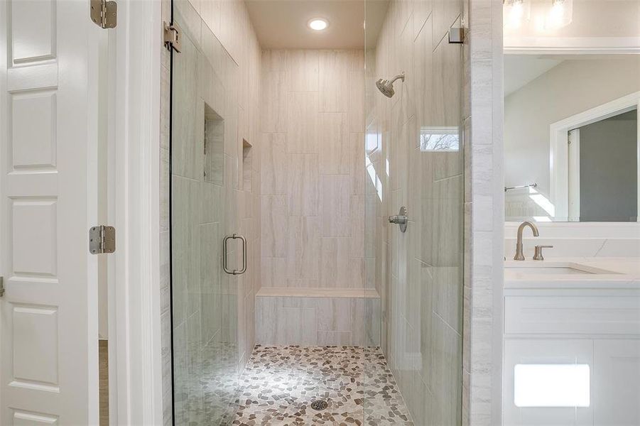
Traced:
<svg viewBox="0 0 640 426">
<path fill-rule="evenodd" d="M 458 425 L 462 417 L 464 155 L 421 148 L 421 133 L 462 135 L 462 49 L 447 37 L 461 19 L 460 1 L 391 1 L 367 51 L 383 350 L 416 425 Z M 394 84 L 394 97 L 376 91 L 376 78 L 400 72 L 406 81 Z M 386 221 L 401 206 L 404 234 Z"/>
</svg>

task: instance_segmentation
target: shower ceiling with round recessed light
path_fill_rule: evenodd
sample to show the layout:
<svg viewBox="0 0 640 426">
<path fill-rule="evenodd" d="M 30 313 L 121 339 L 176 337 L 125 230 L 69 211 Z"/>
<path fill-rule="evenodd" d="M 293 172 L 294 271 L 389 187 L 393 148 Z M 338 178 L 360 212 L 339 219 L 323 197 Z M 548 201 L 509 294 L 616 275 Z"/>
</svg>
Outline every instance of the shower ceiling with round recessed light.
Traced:
<svg viewBox="0 0 640 426">
<path fill-rule="evenodd" d="M 262 48 L 364 48 L 364 0 L 245 0 Z M 367 0 L 367 47 L 374 45 L 388 0 Z M 329 28 L 313 31 L 311 18 Z"/>
</svg>

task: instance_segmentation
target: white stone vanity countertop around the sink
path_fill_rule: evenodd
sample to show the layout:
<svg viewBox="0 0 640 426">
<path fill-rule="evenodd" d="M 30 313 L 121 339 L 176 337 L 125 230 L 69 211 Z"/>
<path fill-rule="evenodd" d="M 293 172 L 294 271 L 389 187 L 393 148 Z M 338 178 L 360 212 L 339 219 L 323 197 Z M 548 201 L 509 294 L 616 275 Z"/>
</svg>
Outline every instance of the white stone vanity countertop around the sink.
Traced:
<svg viewBox="0 0 640 426">
<path fill-rule="evenodd" d="M 517 269 L 516 269 L 517 268 Z M 545 268 L 543 273 L 536 268 Z M 573 268 L 585 273 L 553 273 Z M 592 288 L 640 290 L 640 258 L 546 258 L 504 262 L 504 288 Z"/>
</svg>

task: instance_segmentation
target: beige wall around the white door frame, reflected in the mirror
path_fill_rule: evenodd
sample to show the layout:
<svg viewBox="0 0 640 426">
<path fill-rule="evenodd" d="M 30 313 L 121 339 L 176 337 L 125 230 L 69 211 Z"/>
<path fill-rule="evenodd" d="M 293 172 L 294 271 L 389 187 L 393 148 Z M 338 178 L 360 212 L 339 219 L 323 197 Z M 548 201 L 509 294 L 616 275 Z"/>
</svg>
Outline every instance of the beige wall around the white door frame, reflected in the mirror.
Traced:
<svg viewBox="0 0 640 426">
<path fill-rule="evenodd" d="M 538 182 L 538 191 L 548 196 L 550 124 L 639 91 L 639 76 L 640 55 L 565 60 L 509 94 L 504 99 L 505 186 Z"/>
</svg>

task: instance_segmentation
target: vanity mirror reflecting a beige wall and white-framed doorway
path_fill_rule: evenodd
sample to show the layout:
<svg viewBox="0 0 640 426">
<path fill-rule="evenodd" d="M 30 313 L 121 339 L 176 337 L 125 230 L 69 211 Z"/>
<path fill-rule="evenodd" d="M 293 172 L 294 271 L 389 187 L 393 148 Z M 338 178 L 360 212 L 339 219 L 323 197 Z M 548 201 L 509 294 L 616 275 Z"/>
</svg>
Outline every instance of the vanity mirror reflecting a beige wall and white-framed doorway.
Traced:
<svg viewBox="0 0 640 426">
<path fill-rule="evenodd" d="M 505 220 L 639 219 L 639 55 L 505 55 Z"/>
</svg>

